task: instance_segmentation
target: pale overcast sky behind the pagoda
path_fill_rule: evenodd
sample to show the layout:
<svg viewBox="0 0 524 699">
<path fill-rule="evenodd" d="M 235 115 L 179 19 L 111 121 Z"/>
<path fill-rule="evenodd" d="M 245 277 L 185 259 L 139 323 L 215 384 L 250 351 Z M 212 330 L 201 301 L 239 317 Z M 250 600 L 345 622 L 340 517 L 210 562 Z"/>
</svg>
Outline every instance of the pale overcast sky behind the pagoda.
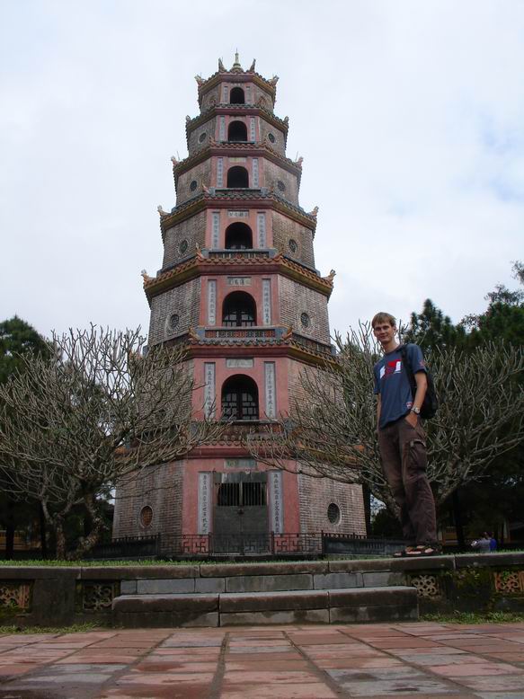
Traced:
<svg viewBox="0 0 524 699">
<path fill-rule="evenodd" d="M 523 259 L 520 0 L 0 0 L 0 320 L 141 325 L 194 75 L 277 74 L 332 330 L 459 321 Z"/>
</svg>

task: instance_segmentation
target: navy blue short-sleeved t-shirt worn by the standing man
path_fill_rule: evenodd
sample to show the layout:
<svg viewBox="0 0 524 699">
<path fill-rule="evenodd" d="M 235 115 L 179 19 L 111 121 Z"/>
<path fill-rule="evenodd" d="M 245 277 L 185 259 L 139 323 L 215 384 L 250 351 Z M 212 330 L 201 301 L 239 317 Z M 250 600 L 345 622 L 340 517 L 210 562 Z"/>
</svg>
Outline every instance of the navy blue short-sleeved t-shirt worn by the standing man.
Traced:
<svg viewBox="0 0 524 699">
<path fill-rule="evenodd" d="M 418 345 L 405 345 L 407 361 L 413 371 L 426 371 L 422 349 Z M 377 361 L 374 367 L 375 394 L 380 394 L 380 420 L 378 427 L 386 427 L 407 415 L 413 407 L 413 395 L 409 378 L 400 353 L 400 345 Z"/>
</svg>

